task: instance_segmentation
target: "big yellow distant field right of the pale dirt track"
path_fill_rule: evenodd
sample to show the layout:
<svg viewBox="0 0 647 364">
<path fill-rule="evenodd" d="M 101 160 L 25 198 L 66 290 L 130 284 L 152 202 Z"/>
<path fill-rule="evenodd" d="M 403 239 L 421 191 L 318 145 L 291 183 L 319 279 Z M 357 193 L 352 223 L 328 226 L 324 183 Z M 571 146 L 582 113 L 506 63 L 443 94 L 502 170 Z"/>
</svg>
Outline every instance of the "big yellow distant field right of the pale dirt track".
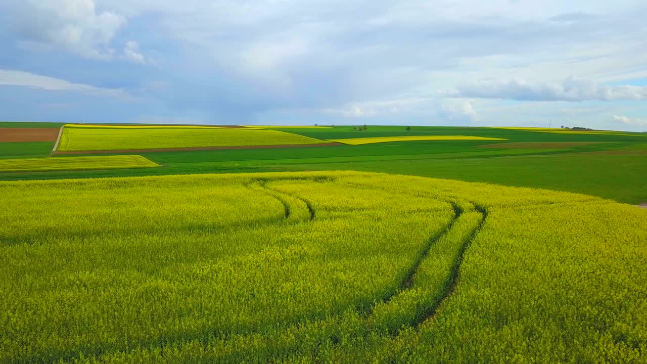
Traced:
<svg viewBox="0 0 647 364">
<path fill-rule="evenodd" d="M 204 127 L 65 126 L 58 146 L 60 152 L 90 150 L 146 150 L 162 148 L 201 148 L 210 146 L 257 146 L 318 144 L 325 141 L 303 135 L 263 129 Z"/>
</svg>

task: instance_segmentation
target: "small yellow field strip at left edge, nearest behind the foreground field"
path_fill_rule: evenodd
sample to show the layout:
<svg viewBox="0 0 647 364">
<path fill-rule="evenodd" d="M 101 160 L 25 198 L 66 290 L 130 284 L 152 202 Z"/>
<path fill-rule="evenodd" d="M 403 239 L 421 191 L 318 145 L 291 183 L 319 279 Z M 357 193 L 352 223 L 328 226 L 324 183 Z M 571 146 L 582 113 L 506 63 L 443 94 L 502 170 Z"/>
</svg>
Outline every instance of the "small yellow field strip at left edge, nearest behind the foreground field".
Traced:
<svg viewBox="0 0 647 364">
<path fill-rule="evenodd" d="M 50 170 L 105 170 L 159 167 L 141 155 L 101 155 L 97 157 L 0 159 L 0 172 Z"/>
</svg>

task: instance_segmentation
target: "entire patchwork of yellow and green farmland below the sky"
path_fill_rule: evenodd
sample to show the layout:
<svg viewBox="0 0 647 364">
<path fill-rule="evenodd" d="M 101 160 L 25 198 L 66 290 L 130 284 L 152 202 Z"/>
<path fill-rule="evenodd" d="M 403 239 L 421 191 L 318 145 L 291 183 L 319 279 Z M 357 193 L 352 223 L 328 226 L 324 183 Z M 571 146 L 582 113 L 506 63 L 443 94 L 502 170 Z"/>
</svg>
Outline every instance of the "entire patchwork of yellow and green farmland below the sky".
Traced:
<svg viewBox="0 0 647 364">
<path fill-rule="evenodd" d="M 642 363 L 647 135 L 543 131 L 0 141 L 0 363 Z"/>
</svg>

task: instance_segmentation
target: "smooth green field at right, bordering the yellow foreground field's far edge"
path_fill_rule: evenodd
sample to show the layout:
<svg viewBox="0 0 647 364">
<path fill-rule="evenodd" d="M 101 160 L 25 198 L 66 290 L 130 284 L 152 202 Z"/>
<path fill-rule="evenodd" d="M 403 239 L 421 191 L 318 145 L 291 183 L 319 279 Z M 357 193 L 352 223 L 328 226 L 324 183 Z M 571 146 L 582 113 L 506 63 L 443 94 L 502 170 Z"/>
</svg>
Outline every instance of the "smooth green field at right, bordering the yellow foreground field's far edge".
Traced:
<svg viewBox="0 0 647 364">
<path fill-rule="evenodd" d="M 269 166 L 267 166 L 269 167 Z M 638 204 L 647 201 L 643 155 L 531 155 L 302 164 L 284 170 L 359 170 L 547 188 Z"/>
</svg>

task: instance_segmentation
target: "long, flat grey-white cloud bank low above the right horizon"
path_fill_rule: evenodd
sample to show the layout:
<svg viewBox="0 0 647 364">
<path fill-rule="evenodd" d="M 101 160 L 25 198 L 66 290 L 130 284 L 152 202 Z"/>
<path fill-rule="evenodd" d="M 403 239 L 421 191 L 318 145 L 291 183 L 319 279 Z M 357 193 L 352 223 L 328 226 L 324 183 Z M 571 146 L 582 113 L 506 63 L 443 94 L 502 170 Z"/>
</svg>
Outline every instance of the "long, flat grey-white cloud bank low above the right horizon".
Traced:
<svg viewBox="0 0 647 364">
<path fill-rule="evenodd" d="M 499 98 L 529 101 L 647 100 L 647 87 L 599 85 L 567 78 L 562 82 L 530 83 L 525 80 L 483 80 L 443 91 L 445 97 Z"/>
</svg>

